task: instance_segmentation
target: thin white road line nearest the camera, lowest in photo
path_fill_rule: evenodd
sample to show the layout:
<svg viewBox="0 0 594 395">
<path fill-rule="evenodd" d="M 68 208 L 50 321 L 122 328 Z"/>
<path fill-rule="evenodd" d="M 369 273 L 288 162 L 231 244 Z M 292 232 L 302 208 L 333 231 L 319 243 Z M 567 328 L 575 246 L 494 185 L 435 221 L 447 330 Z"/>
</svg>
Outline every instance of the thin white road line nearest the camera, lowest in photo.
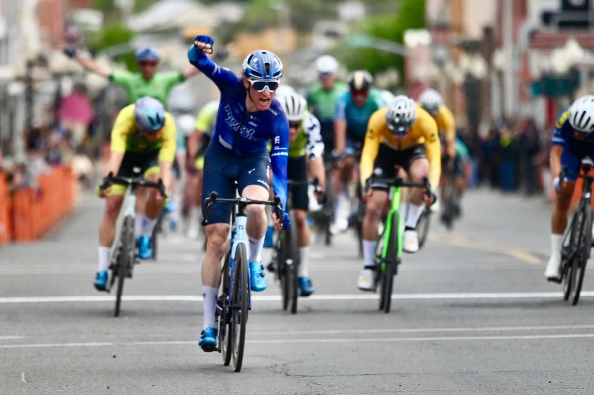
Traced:
<svg viewBox="0 0 594 395">
<path fill-rule="evenodd" d="M 424 336 L 424 337 L 340 337 L 340 338 L 314 338 L 307 339 L 307 343 L 347 343 L 356 340 L 361 342 L 436 342 L 452 340 L 535 340 L 535 339 L 580 339 L 594 337 L 594 333 L 559 333 L 559 334 L 528 334 L 528 335 L 497 335 L 497 336 Z M 195 340 L 154 340 L 146 342 L 90 342 L 90 343 L 28 343 L 21 345 L 0 345 L 0 349 L 34 349 L 49 347 L 96 347 L 96 346 L 171 346 L 171 345 L 195 345 L 198 346 L 198 339 Z M 304 343 L 304 339 L 248 339 L 246 343 L 257 344 L 282 344 L 282 343 Z"/>
</svg>

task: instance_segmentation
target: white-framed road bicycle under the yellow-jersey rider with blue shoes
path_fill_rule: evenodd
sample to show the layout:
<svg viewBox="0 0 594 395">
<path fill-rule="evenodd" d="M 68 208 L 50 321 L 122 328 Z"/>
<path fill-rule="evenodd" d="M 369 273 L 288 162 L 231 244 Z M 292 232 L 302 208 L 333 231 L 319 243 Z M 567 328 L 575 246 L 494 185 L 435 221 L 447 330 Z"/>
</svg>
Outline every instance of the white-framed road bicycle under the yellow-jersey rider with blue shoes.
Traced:
<svg viewBox="0 0 594 395">
<path fill-rule="evenodd" d="M 106 189 L 112 184 L 121 184 L 127 186 L 126 194 L 124 195 L 124 202 L 121 210 L 124 210 L 124 218 L 121 222 L 119 238 L 116 238 L 112 246 L 112 254 L 109 265 L 109 270 L 112 272 L 110 281 L 108 283 L 108 292 L 111 292 L 116 278 L 116 299 L 115 299 L 115 317 L 119 316 L 120 307 L 122 303 L 122 292 L 124 292 L 124 280 L 132 278 L 132 270 L 134 265 L 138 263 L 138 256 L 136 245 L 134 241 L 134 219 L 136 217 L 136 188 L 149 187 L 159 189 L 163 198 L 166 198 L 165 185 L 159 179 L 159 182 L 147 181 L 140 175 L 140 169 L 134 168 L 132 177 L 114 176 L 109 173 L 103 182 L 101 188 Z"/>
</svg>

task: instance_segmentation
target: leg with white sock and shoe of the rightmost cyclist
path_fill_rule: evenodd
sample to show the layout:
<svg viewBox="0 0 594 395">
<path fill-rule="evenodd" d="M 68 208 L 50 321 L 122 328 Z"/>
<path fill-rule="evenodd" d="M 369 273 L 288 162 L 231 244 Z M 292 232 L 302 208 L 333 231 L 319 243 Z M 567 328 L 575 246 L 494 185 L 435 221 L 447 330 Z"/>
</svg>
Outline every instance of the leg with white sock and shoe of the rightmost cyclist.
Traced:
<svg viewBox="0 0 594 395">
<path fill-rule="evenodd" d="M 555 207 L 551 219 L 551 258 L 546 265 L 545 277 L 558 279 L 561 276 L 561 248 L 563 247 L 563 232 L 567 226 L 567 211 L 571 204 L 573 190 L 576 187 L 577 173 L 580 171 L 580 162 L 583 155 L 573 153 L 565 147 L 561 154 L 561 168 L 567 168 L 565 179 L 561 180 Z"/>
</svg>

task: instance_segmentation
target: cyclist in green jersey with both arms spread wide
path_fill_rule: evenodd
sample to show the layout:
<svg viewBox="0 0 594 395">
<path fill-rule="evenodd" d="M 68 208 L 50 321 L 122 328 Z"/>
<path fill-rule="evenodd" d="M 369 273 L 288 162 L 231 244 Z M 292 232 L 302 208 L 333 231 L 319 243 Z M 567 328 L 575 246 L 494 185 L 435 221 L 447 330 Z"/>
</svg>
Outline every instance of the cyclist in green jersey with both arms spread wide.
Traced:
<svg viewBox="0 0 594 395">
<path fill-rule="evenodd" d="M 77 55 L 72 49 L 65 49 L 64 52 L 76 59 L 78 64 L 87 71 L 109 78 L 114 84 L 123 87 L 128 92 L 129 104 L 134 103 L 139 97 L 150 96 L 159 100 L 163 106 L 167 106 L 169 92 L 173 86 L 200 72 L 193 66 L 188 66 L 181 72 L 157 72 L 160 56 L 152 46 L 143 47 L 136 52 L 140 72 L 112 71 L 91 58 Z"/>
</svg>

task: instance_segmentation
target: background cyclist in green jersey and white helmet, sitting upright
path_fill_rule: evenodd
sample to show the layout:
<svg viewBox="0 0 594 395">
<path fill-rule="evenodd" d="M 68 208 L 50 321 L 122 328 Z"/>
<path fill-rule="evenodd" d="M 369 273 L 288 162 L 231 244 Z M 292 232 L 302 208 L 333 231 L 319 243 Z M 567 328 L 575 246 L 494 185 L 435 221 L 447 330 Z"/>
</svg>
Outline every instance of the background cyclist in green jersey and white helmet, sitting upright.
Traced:
<svg viewBox="0 0 594 395">
<path fill-rule="evenodd" d="M 332 56 L 320 56 L 315 61 L 315 68 L 320 76 L 320 83 L 309 90 L 307 104 L 311 113 L 320 121 L 326 153 L 330 154 L 334 149 L 336 98 L 349 90 L 349 87 L 342 81 L 336 81 L 338 62 Z"/>
</svg>

